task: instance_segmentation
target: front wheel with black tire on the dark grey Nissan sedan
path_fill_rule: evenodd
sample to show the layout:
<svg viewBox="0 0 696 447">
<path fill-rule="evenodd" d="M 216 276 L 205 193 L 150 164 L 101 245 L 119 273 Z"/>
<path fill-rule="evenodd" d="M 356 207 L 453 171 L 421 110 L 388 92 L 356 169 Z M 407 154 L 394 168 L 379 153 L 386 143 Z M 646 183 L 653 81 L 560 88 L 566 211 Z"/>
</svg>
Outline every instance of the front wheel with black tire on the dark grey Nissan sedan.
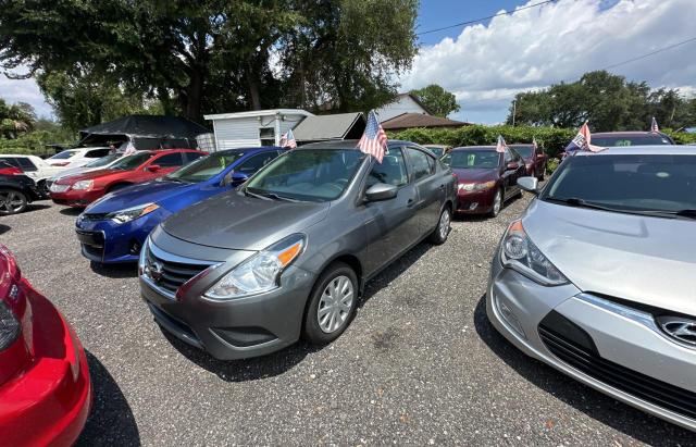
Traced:
<svg viewBox="0 0 696 447">
<path fill-rule="evenodd" d="M 351 287 L 350 298 L 346 287 Z M 340 290 L 344 290 L 345 296 L 343 298 L 339 296 L 338 302 L 333 305 L 335 301 L 332 301 L 332 295 Z M 336 262 L 327 266 L 310 295 L 304 312 L 302 338 L 318 346 L 327 345 L 338 338 L 356 313 L 358 294 L 358 276 L 348 264 Z M 346 305 L 348 300 L 350 302 Z"/>
</svg>

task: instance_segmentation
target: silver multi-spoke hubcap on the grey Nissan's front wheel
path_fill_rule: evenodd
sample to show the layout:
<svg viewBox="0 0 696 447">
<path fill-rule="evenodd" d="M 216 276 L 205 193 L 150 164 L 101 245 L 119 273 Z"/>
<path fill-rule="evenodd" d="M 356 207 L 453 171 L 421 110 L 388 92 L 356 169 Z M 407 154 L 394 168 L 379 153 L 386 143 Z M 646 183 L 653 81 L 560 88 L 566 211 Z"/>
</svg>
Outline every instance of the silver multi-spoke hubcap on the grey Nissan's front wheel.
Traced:
<svg viewBox="0 0 696 447">
<path fill-rule="evenodd" d="M 353 300 L 352 282 L 348 276 L 336 276 L 326 285 L 316 309 L 316 321 L 322 332 L 338 331 L 348 320 Z"/>
</svg>

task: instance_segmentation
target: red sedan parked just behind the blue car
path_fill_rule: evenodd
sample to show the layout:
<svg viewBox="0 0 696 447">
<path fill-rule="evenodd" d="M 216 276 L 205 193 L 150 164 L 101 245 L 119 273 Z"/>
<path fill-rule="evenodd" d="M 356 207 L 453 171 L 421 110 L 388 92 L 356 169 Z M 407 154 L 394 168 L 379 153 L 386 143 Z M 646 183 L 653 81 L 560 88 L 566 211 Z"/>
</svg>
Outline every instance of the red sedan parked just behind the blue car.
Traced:
<svg viewBox="0 0 696 447">
<path fill-rule="evenodd" d="M 108 169 L 59 178 L 49 193 L 55 203 L 85 208 L 108 193 L 161 177 L 203 156 L 192 149 L 139 151 Z"/>
</svg>

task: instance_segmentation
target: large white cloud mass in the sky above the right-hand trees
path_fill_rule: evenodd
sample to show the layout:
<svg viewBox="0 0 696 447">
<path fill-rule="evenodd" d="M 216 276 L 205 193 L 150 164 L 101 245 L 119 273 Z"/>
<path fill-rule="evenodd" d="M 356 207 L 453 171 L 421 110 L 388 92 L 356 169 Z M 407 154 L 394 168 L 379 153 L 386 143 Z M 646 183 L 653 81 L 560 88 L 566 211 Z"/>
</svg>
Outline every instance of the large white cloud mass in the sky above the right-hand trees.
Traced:
<svg viewBox="0 0 696 447">
<path fill-rule="evenodd" d="M 530 0 L 527 4 L 537 2 Z M 423 47 L 402 89 L 439 84 L 462 105 L 459 119 L 505 120 L 514 92 L 576 80 L 696 37 L 694 0 L 559 0 L 465 27 Z M 652 87 L 696 88 L 696 41 L 610 71 Z"/>
</svg>

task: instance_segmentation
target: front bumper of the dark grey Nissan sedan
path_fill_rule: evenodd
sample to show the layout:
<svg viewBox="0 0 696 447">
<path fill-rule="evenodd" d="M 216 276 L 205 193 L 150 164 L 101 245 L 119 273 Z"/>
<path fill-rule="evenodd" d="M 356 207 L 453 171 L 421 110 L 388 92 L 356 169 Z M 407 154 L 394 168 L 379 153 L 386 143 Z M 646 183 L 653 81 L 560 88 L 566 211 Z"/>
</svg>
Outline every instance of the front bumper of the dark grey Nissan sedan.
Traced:
<svg viewBox="0 0 696 447">
<path fill-rule="evenodd" d="M 150 249 L 151 243 L 147 243 L 144 250 L 148 251 L 142 256 Z M 159 254 L 160 261 L 167 257 Z M 177 269 L 186 265 L 179 257 L 170 259 Z M 315 275 L 290 265 L 281 286 L 269 293 L 229 300 L 204 297 L 204 291 L 234 266 L 235 262 L 214 264 L 204 277 L 182 285 L 178 297 L 140 272 L 140 293 L 161 327 L 220 360 L 263 356 L 296 343 Z"/>
</svg>

